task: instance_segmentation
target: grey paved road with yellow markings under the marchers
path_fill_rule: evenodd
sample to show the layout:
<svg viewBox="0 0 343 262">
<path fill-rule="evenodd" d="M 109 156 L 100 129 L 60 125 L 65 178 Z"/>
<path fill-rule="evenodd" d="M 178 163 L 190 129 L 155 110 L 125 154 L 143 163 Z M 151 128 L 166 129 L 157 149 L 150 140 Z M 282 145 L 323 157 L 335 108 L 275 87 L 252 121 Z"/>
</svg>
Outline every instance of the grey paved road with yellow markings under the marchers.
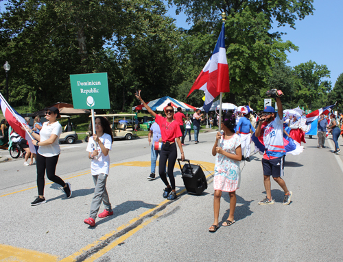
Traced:
<svg viewBox="0 0 343 262">
<path fill-rule="evenodd" d="M 214 138 L 215 133 L 201 133 L 200 144 L 184 148 L 187 158 L 208 170 L 210 182 Z M 62 146 L 58 163 L 58 174 L 71 183 L 73 197 L 67 199 L 56 185 L 47 184 L 48 201 L 37 207 L 29 205 L 37 195 L 35 168 L 23 166 L 23 160 L 0 163 L 0 261 L 342 261 L 343 163 L 331 148 L 316 146 L 316 139 L 307 139 L 302 154 L 286 157 L 284 179 L 294 193 L 288 206 L 282 205 L 283 192 L 274 181 L 275 204 L 257 205 L 265 197 L 261 156 L 242 162 L 237 222 L 216 233 L 208 232 L 213 184 L 202 196 L 185 194 L 176 168 L 180 198 L 162 198 L 161 179 L 146 179 L 146 139 L 113 143 L 108 192 L 115 214 L 98 219 L 95 228 L 82 222 L 93 196 L 85 143 Z M 222 221 L 228 206 L 223 194 Z"/>
</svg>

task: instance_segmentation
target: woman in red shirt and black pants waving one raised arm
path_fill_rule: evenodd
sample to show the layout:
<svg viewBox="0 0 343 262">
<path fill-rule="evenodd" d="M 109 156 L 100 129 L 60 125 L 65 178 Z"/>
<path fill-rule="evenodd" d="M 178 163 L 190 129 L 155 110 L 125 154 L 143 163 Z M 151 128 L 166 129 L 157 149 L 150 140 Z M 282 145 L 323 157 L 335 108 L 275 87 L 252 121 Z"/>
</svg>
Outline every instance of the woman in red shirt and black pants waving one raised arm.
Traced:
<svg viewBox="0 0 343 262">
<path fill-rule="evenodd" d="M 176 149 L 176 143 L 178 144 L 178 148 L 180 148 L 181 152 L 181 159 L 182 161 L 185 160 L 185 154 L 183 153 L 182 144 L 180 137 L 182 137 L 182 133 L 180 130 L 180 126 L 176 120 L 174 120 L 174 108 L 170 105 L 170 103 L 165 107 L 165 115 L 166 118 L 163 116 L 158 116 L 152 109 L 141 99 L 141 90 L 139 90 L 138 94 L 136 93 L 136 97 L 139 101 L 141 101 L 142 105 L 147 109 L 152 116 L 154 116 L 156 123 L 160 126 L 161 129 L 161 137 L 163 146 L 161 148 L 160 153 L 160 161 L 158 165 L 158 173 L 160 177 L 167 186 L 163 191 L 163 198 L 167 198 L 169 200 L 174 200 L 178 196 L 176 195 L 176 187 L 175 187 L 175 178 L 174 178 L 174 166 L 176 162 L 176 158 L 178 157 L 178 152 Z M 176 143 L 175 143 L 176 139 Z M 168 168 L 167 174 L 169 176 L 170 185 L 167 180 L 167 176 L 165 174 L 165 165 L 168 160 Z"/>
</svg>

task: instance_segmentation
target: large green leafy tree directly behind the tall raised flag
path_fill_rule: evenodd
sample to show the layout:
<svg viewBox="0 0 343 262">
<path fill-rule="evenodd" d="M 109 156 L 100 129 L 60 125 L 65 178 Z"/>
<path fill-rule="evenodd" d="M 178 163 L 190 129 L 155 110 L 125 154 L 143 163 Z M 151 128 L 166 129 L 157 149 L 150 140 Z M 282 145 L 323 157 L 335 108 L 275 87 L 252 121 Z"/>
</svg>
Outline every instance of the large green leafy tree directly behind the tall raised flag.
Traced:
<svg viewBox="0 0 343 262">
<path fill-rule="evenodd" d="M 176 5 L 176 12 L 184 11 L 188 15 L 188 21 L 194 23 L 189 34 L 219 33 L 220 14 L 226 12 L 228 15 L 226 54 L 230 70 L 230 92 L 233 93 L 230 94 L 230 99 L 233 103 L 235 94 L 239 92 L 251 91 L 247 96 L 254 96 L 251 87 L 259 90 L 265 88 L 274 63 L 286 60 L 285 51 L 297 50 L 292 42 L 281 40 L 283 33 L 271 32 L 272 21 L 276 21 L 278 27 L 289 25 L 294 28 L 296 19 L 312 14 L 312 2 L 313 0 L 169 0 L 170 5 Z"/>
</svg>

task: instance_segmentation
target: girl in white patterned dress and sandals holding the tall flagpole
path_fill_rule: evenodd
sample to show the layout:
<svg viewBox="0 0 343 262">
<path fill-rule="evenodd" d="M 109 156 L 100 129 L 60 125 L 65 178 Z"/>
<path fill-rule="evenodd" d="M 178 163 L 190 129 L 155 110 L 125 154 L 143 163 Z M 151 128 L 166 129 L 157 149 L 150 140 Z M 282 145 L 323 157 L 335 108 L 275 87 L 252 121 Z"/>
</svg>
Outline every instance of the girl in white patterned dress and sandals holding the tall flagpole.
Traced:
<svg viewBox="0 0 343 262">
<path fill-rule="evenodd" d="M 215 144 L 212 148 L 212 155 L 215 158 L 215 177 L 213 187 L 215 189 L 213 200 L 214 222 L 209 231 L 215 232 L 219 228 L 220 198 L 222 192 L 228 192 L 230 196 L 230 213 L 228 220 L 222 226 L 230 226 L 235 223 L 234 214 L 236 208 L 236 189 L 241 181 L 239 161 L 241 161 L 241 138 L 235 133 L 235 116 L 232 112 L 226 113 L 221 123 L 221 130 L 215 136 Z"/>
</svg>

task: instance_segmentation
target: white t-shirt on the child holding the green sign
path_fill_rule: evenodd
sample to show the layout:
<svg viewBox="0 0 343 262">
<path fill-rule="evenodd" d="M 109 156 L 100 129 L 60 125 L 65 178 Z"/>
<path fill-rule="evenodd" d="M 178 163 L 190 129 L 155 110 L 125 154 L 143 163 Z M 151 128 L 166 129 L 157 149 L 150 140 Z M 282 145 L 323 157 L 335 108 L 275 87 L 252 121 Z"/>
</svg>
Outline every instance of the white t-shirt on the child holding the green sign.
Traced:
<svg viewBox="0 0 343 262">
<path fill-rule="evenodd" d="M 104 133 L 102 137 L 99 137 L 99 140 L 104 144 L 105 148 L 108 150 L 112 149 L 112 140 L 108 133 Z M 93 150 L 95 150 L 95 142 L 93 137 L 89 137 L 86 151 L 92 153 Z M 105 156 L 104 153 L 102 153 L 102 148 L 100 148 L 99 144 L 97 144 L 97 150 L 99 151 L 97 159 L 92 159 L 91 163 L 92 175 L 108 174 L 108 172 L 110 172 L 110 154 Z"/>
</svg>

